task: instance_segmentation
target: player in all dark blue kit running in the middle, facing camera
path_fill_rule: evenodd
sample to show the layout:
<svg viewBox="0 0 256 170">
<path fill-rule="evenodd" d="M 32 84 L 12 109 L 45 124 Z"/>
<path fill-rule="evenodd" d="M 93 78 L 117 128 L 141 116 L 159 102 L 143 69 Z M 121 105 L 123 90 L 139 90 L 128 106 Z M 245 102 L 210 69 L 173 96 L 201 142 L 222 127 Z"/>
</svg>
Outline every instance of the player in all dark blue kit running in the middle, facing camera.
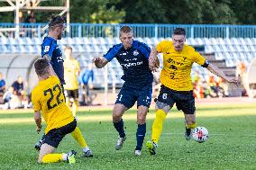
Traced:
<svg viewBox="0 0 256 170">
<path fill-rule="evenodd" d="M 116 58 L 123 67 L 124 84 L 117 96 L 113 111 L 114 128 L 119 133 L 115 149 L 121 149 L 126 139 L 123 130 L 123 113 L 137 102 L 138 129 L 136 133 L 137 146 L 134 153 L 136 156 L 140 156 L 146 133 L 146 115 L 151 104 L 153 76 L 148 60 L 151 49 L 146 44 L 133 40 L 133 31 L 129 26 L 121 28 L 120 40 L 122 43 L 114 45 L 103 57 L 95 58 L 94 61 L 96 67 L 101 68 Z"/>
</svg>

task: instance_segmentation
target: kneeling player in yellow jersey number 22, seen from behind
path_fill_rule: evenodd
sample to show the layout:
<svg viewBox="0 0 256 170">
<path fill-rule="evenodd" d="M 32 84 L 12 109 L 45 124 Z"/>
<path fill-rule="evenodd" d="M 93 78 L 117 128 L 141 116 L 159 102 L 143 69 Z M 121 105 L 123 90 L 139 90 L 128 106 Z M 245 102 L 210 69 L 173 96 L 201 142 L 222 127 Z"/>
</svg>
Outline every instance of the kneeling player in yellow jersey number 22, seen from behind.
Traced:
<svg viewBox="0 0 256 170">
<path fill-rule="evenodd" d="M 65 98 L 59 78 L 58 76 L 54 76 L 55 74 L 50 69 L 48 59 L 37 59 L 34 67 L 39 77 L 38 85 L 32 90 L 34 121 L 36 122 L 37 132 L 39 133 L 42 127 L 41 114 L 47 124 L 38 162 L 53 163 L 68 161 L 70 164 L 74 163 L 75 151 L 72 150 L 68 154 L 53 154 L 55 148 L 58 148 L 59 142 L 69 133 L 72 134 L 73 138 L 83 148 L 84 155 L 87 155 L 87 150 L 89 150 L 87 143 L 77 127 L 77 121 L 64 101 Z"/>
</svg>

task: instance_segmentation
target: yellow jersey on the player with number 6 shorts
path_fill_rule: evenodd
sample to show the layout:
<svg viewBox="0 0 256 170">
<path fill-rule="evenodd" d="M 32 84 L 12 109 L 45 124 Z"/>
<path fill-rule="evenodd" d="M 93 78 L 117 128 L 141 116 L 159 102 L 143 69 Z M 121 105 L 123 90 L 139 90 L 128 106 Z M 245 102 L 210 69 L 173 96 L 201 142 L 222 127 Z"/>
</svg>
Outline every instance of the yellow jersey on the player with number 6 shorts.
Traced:
<svg viewBox="0 0 256 170">
<path fill-rule="evenodd" d="M 161 41 L 156 49 L 159 53 L 163 53 L 160 83 L 176 91 L 193 90 L 190 76 L 192 65 L 194 62 L 204 65 L 206 58 L 187 44 L 184 44 L 181 51 L 176 51 L 170 40 Z"/>
</svg>

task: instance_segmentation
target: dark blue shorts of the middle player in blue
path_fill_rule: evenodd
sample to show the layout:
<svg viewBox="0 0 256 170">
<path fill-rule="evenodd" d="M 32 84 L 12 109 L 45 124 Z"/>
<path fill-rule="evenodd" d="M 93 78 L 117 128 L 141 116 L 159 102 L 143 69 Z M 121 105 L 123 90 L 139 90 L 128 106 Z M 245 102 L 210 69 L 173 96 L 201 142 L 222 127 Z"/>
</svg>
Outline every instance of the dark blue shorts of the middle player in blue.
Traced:
<svg viewBox="0 0 256 170">
<path fill-rule="evenodd" d="M 137 107 L 143 105 L 149 108 L 151 105 L 151 94 L 152 86 L 133 87 L 131 85 L 123 85 L 115 103 L 122 103 L 130 109 L 137 102 Z"/>
</svg>

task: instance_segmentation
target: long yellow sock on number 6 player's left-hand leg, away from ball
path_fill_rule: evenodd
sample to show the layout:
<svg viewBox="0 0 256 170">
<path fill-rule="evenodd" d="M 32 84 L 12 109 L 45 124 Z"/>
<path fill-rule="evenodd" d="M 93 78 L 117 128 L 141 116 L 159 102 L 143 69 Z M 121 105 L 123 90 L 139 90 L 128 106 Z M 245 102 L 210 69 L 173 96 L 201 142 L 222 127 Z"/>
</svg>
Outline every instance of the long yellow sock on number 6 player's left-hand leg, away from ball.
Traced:
<svg viewBox="0 0 256 170">
<path fill-rule="evenodd" d="M 166 113 L 163 110 L 158 110 L 156 112 L 156 118 L 152 125 L 152 134 L 151 134 L 151 140 L 155 143 L 158 143 L 160 139 L 162 125 L 165 119 L 166 119 Z"/>
</svg>

